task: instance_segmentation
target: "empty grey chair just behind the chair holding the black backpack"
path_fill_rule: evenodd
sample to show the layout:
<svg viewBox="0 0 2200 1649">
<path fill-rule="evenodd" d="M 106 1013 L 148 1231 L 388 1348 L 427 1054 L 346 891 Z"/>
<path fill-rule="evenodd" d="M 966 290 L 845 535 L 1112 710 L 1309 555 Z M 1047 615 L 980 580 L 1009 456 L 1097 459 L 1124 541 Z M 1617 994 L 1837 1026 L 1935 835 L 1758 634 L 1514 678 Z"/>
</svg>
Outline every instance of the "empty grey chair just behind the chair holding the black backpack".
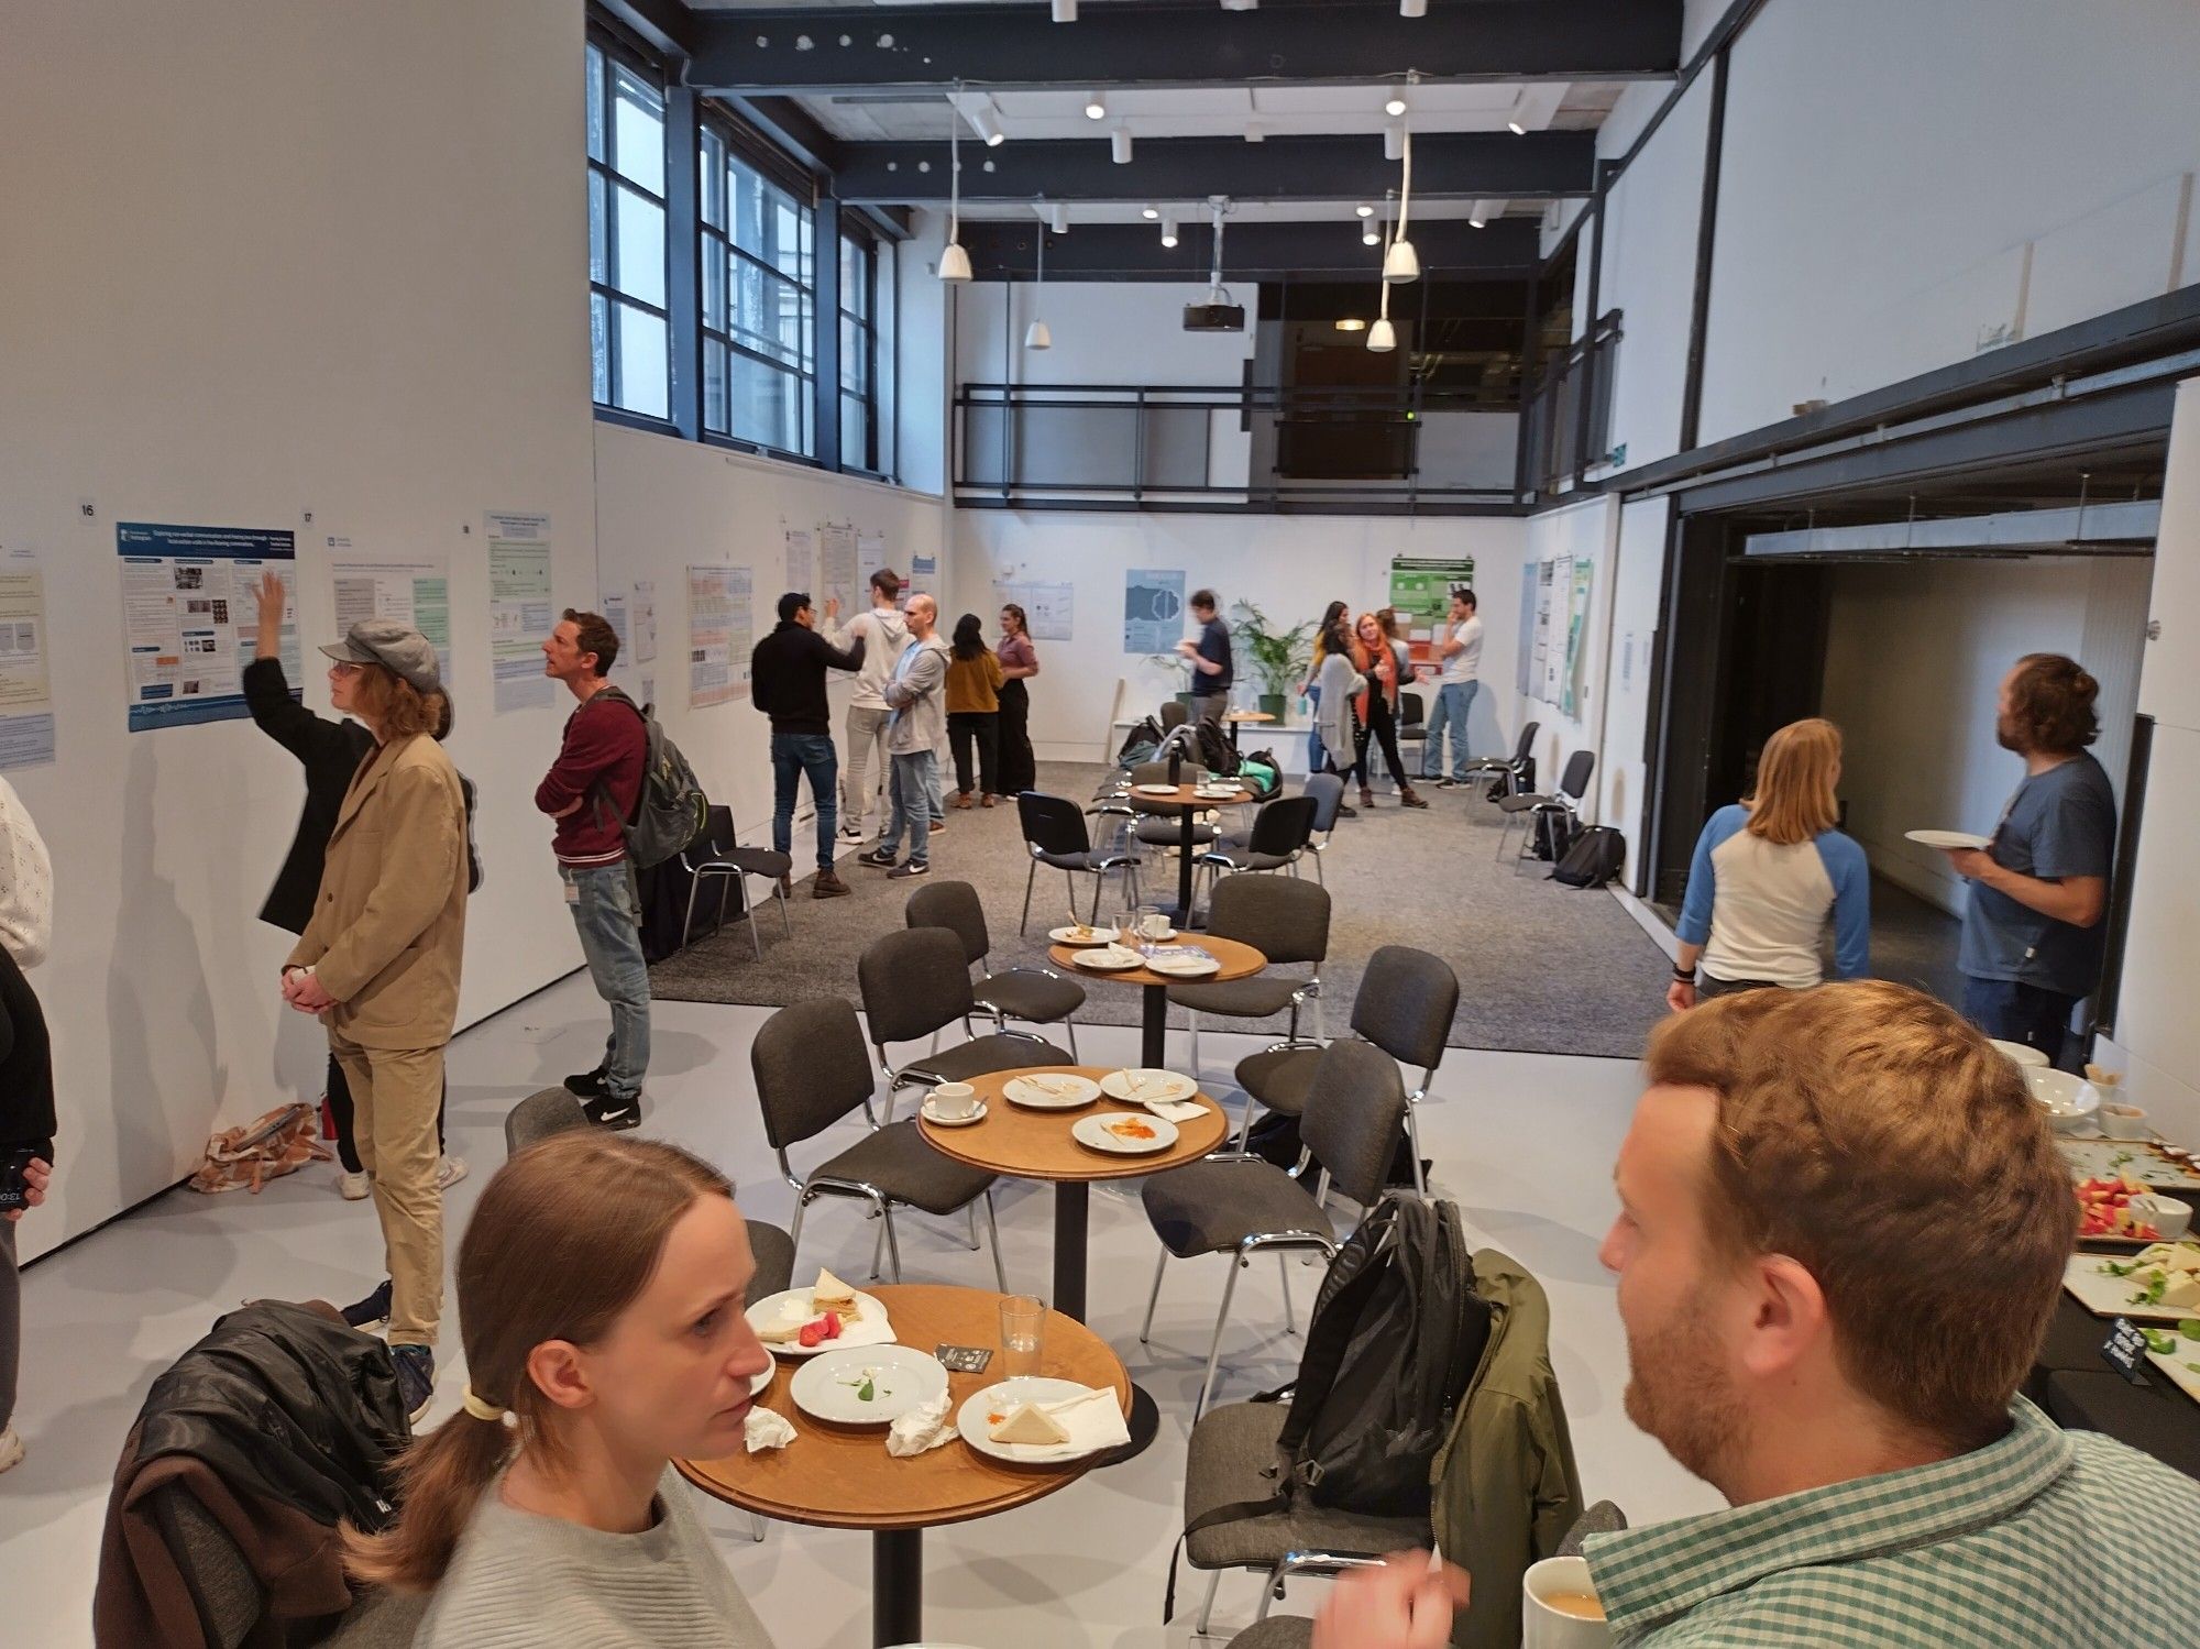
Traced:
<svg viewBox="0 0 2200 1649">
<path fill-rule="evenodd" d="M 1230 884 L 1225 882 L 1223 888 Z M 1283 886 L 1305 886 L 1283 884 Z M 1373 1207 L 1390 1172 L 1399 1117 L 1406 1110 L 1406 1086 L 1397 1060 L 1371 1042 L 1331 1042 L 1322 1049 L 1300 1117 L 1300 1137 L 1316 1152 L 1335 1189 L 1353 1203 Z M 1338 1255 L 1338 1227 L 1305 1185 L 1258 1156 L 1208 1156 L 1144 1183 L 1146 1220 L 1162 1238 L 1153 1266 L 1153 1295 L 1146 1299 L 1146 1321 L 1140 1341 L 1153 1335 L 1153 1308 L 1162 1297 L 1162 1271 L 1170 1255 L 1188 1260 L 1197 1253 L 1230 1255 L 1230 1280 L 1223 1304 L 1214 1313 L 1214 1343 L 1208 1348 L 1208 1374 L 1199 1385 L 1192 1418 L 1208 1407 L 1214 1390 L 1214 1363 L 1223 1350 L 1223 1321 L 1230 1317 L 1230 1295 L 1236 1273 L 1252 1255 L 1311 1249 L 1327 1260 Z M 1285 1260 L 1283 1321 L 1291 1326 L 1291 1273 Z"/>
</svg>

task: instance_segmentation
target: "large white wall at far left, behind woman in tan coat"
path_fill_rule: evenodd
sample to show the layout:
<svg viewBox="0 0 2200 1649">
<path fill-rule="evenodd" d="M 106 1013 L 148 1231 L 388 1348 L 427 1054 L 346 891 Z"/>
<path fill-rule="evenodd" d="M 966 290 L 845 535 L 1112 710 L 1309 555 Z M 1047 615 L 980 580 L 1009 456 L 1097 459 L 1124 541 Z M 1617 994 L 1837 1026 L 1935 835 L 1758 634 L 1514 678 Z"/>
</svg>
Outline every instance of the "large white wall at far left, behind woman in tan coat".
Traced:
<svg viewBox="0 0 2200 1649">
<path fill-rule="evenodd" d="M 532 807 L 563 710 L 491 712 L 482 512 L 548 512 L 557 598 L 594 598 L 581 84 L 579 4 L 9 18 L 0 545 L 42 558 L 59 660 L 59 761 L 11 774 L 57 875 L 33 983 L 62 1174 L 33 1253 L 189 1172 L 218 1124 L 319 1095 L 323 1062 L 275 994 L 290 937 L 255 917 L 299 767 L 249 721 L 123 730 L 117 521 L 297 530 L 308 640 L 323 536 L 449 556 L 488 866 L 462 1018 L 579 963 Z"/>
</svg>

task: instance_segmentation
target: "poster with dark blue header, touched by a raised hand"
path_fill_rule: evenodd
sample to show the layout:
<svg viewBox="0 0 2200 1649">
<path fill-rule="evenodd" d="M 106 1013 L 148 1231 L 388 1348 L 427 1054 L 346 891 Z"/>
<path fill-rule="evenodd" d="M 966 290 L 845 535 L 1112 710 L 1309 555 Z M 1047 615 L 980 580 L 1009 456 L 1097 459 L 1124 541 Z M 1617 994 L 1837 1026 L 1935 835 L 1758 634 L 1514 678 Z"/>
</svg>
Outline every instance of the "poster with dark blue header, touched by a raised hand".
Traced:
<svg viewBox="0 0 2200 1649">
<path fill-rule="evenodd" d="M 257 644 L 253 585 L 284 583 L 282 664 L 297 682 L 297 541 L 260 528 L 121 521 L 123 649 L 130 732 L 233 721 Z"/>
</svg>

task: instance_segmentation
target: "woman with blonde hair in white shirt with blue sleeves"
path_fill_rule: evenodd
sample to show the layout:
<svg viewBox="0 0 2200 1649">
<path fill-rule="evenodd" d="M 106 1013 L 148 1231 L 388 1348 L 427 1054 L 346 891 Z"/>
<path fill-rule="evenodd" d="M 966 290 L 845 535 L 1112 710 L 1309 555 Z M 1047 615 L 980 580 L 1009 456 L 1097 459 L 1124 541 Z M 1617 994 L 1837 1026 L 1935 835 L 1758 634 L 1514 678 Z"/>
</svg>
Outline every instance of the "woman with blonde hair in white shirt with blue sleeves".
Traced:
<svg viewBox="0 0 2200 1649">
<path fill-rule="evenodd" d="M 1696 838 L 1681 904 L 1681 954 L 1665 1003 L 1824 978 L 1819 934 L 1833 917 L 1835 974 L 1872 965 L 1872 877 L 1863 849 L 1835 829 L 1841 730 L 1811 717 L 1764 741 L 1753 796 L 1712 814 Z"/>
</svg>

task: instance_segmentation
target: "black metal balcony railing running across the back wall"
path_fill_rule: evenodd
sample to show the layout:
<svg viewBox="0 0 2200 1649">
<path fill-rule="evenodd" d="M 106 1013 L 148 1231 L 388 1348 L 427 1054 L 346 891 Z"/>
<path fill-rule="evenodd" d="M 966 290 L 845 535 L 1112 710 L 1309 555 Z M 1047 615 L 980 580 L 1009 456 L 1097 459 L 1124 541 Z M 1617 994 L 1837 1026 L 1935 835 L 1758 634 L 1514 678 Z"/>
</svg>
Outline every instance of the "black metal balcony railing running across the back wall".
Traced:
<svg viewBox="0 0 2200 1649">
<path fill-rule="evenodd" d="M 970 383 L 955 490 L 977 508 L 1514 510 L 1518 413 L 1419 385 Z"/>
</svg>

